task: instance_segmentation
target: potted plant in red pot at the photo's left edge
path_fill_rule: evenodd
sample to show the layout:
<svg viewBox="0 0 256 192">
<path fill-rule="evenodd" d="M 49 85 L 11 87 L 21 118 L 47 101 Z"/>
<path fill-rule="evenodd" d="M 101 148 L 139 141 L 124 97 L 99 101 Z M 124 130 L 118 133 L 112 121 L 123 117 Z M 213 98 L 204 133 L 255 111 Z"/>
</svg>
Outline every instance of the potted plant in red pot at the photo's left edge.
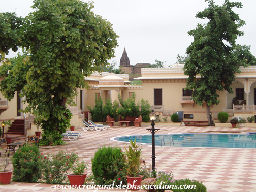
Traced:
<svg viewBox="0 0 256 192">
<path fill-rule="evenodd" d="M 12 170 L 6 170 L 6 167 L 9 165 L 11 161 L 11 159 L 8 157 L 8 153 L 4 153 L 5 154 L 4 158 L 1 158 L 1 162 L 3 162 L 0 164 L 0 183 L 1 184 L 11 183 Z M 4 170 L 1 170 L 1 168 L 4 168 Z"/>
</svg>

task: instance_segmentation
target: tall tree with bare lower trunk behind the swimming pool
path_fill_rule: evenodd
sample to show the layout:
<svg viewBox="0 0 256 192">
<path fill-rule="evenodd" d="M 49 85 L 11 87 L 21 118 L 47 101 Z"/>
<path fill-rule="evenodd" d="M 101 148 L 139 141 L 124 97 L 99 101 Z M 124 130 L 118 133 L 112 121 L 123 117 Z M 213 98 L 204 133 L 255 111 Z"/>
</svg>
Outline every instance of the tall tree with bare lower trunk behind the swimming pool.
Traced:
<svg viewBox="0 0 256 192">
<path fill-rule="evenodd" d="M 232 82 L 239 68 L 255 62 L 249 46 L 236 44 L 237 37 L 243 35 L 238 30 L 245 24 L 232 8 L 242 8 L 240 2 L 225 0 L 222 6 L 206 0 L 208 8 L 198 12 L 196 17 L 208 19 L 207 24 L 198 24 L 196 29 L 188 31 L 194 41 L 187 48 L 184 74 L 188 75 L 187 86 L 193 90 L 195 103 L 207 104 L 208 124 L 212 125 L 211 105 L 219 104 L 217 91 L 232 93 Z M 196 78 L 199 75 L 200 78 Z"/>
</svg>

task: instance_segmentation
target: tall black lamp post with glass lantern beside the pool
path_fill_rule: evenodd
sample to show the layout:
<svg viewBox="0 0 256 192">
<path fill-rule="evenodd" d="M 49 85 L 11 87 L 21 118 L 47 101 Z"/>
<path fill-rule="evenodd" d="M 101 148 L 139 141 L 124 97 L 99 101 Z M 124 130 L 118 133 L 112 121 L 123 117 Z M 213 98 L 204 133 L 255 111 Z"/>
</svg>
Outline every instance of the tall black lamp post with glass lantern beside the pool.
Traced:
<svg viewBox="0 0 256 192">
<path fill-rule="evenodd" d="M 149 118 L 151 120 L 151 126 L 152 128 L 147 128 L 148 131 L 151 132 L 152 134 L 152 170 L 155 171 L 155 142 L 154 142 L 154 135 L 155 132 L 157 132 L 160 129 L 155 129 L 154 125 L 154 121 L 156 119 L 156 114 L 154 113 L 154 110 L 152 110 L 152 113 L 149 114 Z M 154 177 L 156 177 L 156 175 L 154 175 Z"/>
</svg>

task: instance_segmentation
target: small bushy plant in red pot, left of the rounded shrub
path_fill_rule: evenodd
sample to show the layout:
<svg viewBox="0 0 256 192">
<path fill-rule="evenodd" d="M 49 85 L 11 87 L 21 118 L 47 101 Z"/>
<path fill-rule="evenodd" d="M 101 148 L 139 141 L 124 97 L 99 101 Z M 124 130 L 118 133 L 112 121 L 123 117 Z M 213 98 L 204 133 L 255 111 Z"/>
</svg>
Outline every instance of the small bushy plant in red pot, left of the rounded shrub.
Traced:
<svg viewBox="0 0 256 192">
<path fill-rule="evenodd" d="M 84 173 L 84 170 L 87 169 L 88 164 L 84 161 L 79 162 L 78 159 L 71 166 L 73 174 L 69 174 L 68 178 L 71 185 L 83 185 L 86 179 L 87 173 Z"/>
</svg>

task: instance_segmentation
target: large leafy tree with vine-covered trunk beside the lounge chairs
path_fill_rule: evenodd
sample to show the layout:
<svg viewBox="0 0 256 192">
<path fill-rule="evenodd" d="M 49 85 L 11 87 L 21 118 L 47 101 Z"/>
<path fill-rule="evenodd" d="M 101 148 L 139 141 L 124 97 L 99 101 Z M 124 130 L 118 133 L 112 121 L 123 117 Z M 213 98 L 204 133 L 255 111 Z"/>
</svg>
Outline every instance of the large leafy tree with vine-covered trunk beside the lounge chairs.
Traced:
<svg viewBox="0 0 256 192">
<path fill-rule="evenodd" d="M 13 72 L 20 64 L 13 62 L 8 67 L 5 63 L 0 73 L 10 78 L 2 81 L 1 87 L 16 82 L 22 84 L 16 87 L 21 89 L 21 96 L 28 103 L 24 112 L 40 117 L 45 143 L 48 135 L 52 135 L 54 144 L 61 144 L 61 135 L 70 126 L 71 113 L 67 104 L 74 105 L 76 89 L 86 87 L 84 76 L 101 71 L 114 56 L 118 36 L 110 22 L 91 11 L 93 5 L 90 3 L 35 0 L 32 7 L 35 11 L 23 19 L 17 34 L 19 46 L 30 52 L 29 62 L 23 63 L 29 67 L 20 67 L 24 69 L 26 82 L 14 81 Z M 18 76 L 24 74 L 16 73 Z M 13 98 L 4 88 L 1 91 L 6 98 Z"/>
</svg>

